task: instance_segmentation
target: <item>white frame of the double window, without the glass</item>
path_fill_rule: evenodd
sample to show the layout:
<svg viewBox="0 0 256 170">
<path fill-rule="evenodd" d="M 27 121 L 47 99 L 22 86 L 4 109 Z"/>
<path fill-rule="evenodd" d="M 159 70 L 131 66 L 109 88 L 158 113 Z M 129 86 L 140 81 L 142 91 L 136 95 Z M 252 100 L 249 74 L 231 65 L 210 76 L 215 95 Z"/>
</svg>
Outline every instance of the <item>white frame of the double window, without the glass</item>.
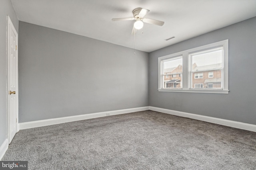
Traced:
<svg viewBox="0 0 256 170">
<path fill-rule="evenodd" d="M 190 86 L 190 80 L 189 80 L 189 70 L 190 70 L 190 57 L 189 54 L 191 53 L 196 53 L 199 51 L 204 51 L 204 50 L 209 50 L 209 49 L 214 49 L 217 47 L 223 47 L 223 58 L 222 58 L 222 89 L 194 89 L 194 88 L 189 88 Z M 172 57 L 178 57 L 182 56 L 182 89 L 166 89 L 162 88 L 162 61 L 168 58 Z M 201 47 L 196 47 L 193 49 L 188 49 L 185 51 L 181 51 L 178 53 L 174 53 L 171 55 L 166 55 L 163 57 L 158 58 L 158 91 L 159 92 L 191 92 L 191 93 L 218 93 L 218 94 L 228 94 L 228 39 L 224 41 L 219 41 L 216 43 L 208 44 L 208 45 L 203 45 Z"/>
</svg>

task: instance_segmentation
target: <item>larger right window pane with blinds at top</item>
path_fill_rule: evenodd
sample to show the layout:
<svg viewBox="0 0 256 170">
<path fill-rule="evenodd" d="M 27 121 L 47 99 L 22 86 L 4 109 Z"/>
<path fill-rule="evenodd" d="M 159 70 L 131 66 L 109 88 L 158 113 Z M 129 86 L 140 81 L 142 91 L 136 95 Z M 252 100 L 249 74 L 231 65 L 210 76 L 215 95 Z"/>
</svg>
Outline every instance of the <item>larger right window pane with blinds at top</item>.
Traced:
<svg viewBox="0 0 256 170">
<path fill-rule="evenodd" d="M 222 89 L 222 54 L 218 47 L 189 55 L 190 88 Z"/>
</svg>

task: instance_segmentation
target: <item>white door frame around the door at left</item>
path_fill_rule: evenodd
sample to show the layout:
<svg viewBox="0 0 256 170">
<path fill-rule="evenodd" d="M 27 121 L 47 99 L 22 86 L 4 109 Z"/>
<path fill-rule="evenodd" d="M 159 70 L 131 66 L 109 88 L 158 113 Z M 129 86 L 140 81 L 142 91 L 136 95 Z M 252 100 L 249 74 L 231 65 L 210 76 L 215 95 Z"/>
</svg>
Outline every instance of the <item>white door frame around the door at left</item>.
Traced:
<svg viewBox="0 0 256 170">
<path fill-rule="evenodd" d="M 8 143 L 10 143 L 10 131 L 9 131 L 9 129 L 10 129 L 10 120 L 9 120 L 9 118 L 10 118 L 10 113 L 9 113 L 9 97 L 10 97 L 10 94 L 9 94 L 9 92 L 10 92 L 10 89 L 9 89 L 9 61 L 10 61 L 10 43 L 9 43 L 9 41 L 10 41 L 10 28 L 12 28 L 13 29 L 13 31 L 14 31 L 14 34 L 16 35 L 16 45 L 17 45 L 17 50 L 16 50 L 16 57 L 17 57 L 17 63 L 16 63 L 16 75 L 17 75 L 17 77 L 16 77 L 16 82 L 17 82 L 17 89 L 16 89 L 16 133 L 19 131 L 19 126 L 18 126 L 18 113 L 19 113 L 19 92 L 18 92 L 18 33 L 17 33 L 17 31 L 16 31 L 16 29 L 15 29 L 15 27 L 14 27 L 14 25 L 13 25 L 13 23 L 12 23 L 12 20 L 10 19 L 10 17 L 9 16 L 7 16 L 7 41 L 6 41 L 6 43 L 7 43 L 7 134 L 8 134 Z"/>
</svg>

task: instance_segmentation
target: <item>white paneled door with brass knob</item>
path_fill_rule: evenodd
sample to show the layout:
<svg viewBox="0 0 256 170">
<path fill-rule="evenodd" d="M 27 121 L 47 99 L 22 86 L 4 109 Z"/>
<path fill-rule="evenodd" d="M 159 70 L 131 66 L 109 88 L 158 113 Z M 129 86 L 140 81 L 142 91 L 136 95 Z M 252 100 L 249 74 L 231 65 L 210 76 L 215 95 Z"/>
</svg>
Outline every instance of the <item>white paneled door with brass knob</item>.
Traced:
<svg viewBox="0 0 256 170">
<path fill-rule="evenodd" d="M 8 16 L 8 136 L 17 132 L 18 115 L 18 33 Z"/>
</svg>

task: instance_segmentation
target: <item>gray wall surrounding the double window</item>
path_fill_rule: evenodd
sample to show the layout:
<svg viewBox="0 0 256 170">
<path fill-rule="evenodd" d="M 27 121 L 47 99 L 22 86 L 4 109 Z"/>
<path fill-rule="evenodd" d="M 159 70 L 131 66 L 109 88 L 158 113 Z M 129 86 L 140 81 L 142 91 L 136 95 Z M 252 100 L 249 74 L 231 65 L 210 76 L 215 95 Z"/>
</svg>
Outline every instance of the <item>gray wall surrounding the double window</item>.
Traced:
<svg viewBox="0 0 256 170">
<path fill-rule="evenodd" d="M 229 94 L 158 92 L 158 57 L 225 39 L 229 39 Z M 149 56 L 150 106 L 256 124 L 256 17 Z"/>
</svg>

